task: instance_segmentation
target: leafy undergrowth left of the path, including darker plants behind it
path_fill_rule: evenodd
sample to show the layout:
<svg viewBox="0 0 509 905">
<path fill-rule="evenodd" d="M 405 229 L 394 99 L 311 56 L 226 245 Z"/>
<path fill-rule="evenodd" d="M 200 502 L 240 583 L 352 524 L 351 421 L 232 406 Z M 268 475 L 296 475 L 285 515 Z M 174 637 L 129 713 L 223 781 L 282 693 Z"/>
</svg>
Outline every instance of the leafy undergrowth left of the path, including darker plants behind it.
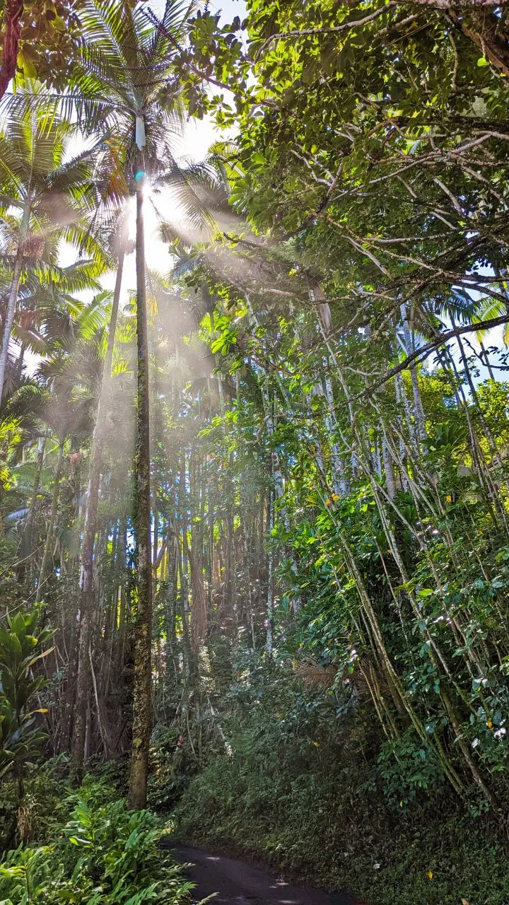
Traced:
<svg viewBox="0 0 509 905">
<path fill-rule="evenodd" d="M 23 841 L 0 860 L 0 905 L 191 901 L 192 884 L 158 851 L 160 818 L 128 810 L 104 778 L 89 776 L 72 791 L 53 767 L 41 767 L 27 783 L 18 813 Z M 8 794 L 4 804 L 8 812 Z"/>
</svg>

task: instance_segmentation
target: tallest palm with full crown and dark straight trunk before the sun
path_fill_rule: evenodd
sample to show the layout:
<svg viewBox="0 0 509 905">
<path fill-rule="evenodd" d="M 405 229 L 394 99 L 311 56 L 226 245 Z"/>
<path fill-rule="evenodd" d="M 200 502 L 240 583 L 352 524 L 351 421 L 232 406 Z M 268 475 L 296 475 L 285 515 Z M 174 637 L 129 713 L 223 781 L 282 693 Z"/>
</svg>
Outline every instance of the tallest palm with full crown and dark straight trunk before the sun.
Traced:
<svg viewBox="0 0 509 905">
<path fill-rule="evenodd" d="M 85 41 L 81 62 L 73 68 L 69 103 L 83 128 L 101 128 L 112 141 L 130 190 L 136 196 L 137 298 L 137 449 L 135 533 L 138 558 L 137 620 L 134 638 L 133 742 L 129 801 L 143 807 L 147 798 L 151 730 L 152 576 L 150 544 L 149 343 L 145 261 L 144 205 L 149 191 L 169 186 L 194 222 L 206 212 L 189 179 L 178 167 L 173 141 L 181 134 L 185 110 L 171 62 L 194 3 L 168 0 L 161 27 L 148 24 L 139 7 L 113 0 L 91 3 L 81 14 Z M 114 138 L 113 138 L 114 137 Z M 111 330 L 110 330 L 111 332 Z M 88 529 L 87 561 L 90 559 Z M 90 606 L 83 599 L 78 686 L 88 684 Z M 83 701 L 78 698 L 78 708 Z M 82 769 L 83 714 L 73 741 L 75 771 Z"/>
</svg>

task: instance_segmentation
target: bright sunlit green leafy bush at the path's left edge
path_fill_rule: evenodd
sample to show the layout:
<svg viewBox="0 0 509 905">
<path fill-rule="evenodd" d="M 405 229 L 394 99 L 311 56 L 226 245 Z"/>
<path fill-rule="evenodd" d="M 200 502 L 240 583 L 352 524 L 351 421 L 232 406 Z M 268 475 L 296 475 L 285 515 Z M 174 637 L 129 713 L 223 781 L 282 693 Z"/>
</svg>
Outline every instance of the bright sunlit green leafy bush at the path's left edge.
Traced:
<svg viewBox="0 0 509 905">
<path fill-rule="evenodd" d="M 97 787 L 82 789 L 60 838 L 5 853 L 1 905 L 181 905 L 192 884 L 157 848 L 158 818 L 127 811 L 123 800 L 97 805 Z M 75 796 L 74 796 L 75 799 Z"/>
</svg>

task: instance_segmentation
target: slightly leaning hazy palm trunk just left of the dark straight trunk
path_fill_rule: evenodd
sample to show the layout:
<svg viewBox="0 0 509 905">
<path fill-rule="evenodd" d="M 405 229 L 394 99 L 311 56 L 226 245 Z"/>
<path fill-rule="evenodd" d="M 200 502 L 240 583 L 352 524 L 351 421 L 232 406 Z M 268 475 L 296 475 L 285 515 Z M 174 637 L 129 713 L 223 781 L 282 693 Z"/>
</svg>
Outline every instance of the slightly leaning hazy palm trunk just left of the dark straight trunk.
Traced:
<svg viewBox="0 0 509 905">
<path fill-rule="evenodd" d="M 103 441 L 103 421 L 107 406 L 104 403 L 108 398 L 108 387 L 111 377 L 111 361 L 115 345 L 115 331 L 119 313 L 120 288 L 122 284 L 122 270 L 125 254 L 125 236 L 122 237 L 120 246 L 117 277 L 113 302 L 111 305 L 110 330 L 108 333 L 108 348 L 104 359 L 101 395 L 97 407 L 97 418 L 93 430 L 91 443 L 91 461 L 89 467 L 89 484 L 87 501 L 85 504 L 85 519 L 83 524 L 82 543 L 82 570 L 80 576 L 81 605 L 80 605 L 80 649 L 78 653 L 78 675 L 76 680 L 76 708 L 74 711 L 74 728 L 72 731 L 72 758 L 71 774 L 73 782 L 81 783 L 85 754 L 85 723 L 87 700 L 90 693 L 90 647 L 91 647 L 91 616 L 93 609 L 93 545 L 97 525 L 97 510 L 99 506 L 99 484 L 101 481 L 101 460 Z"/>
</svg>

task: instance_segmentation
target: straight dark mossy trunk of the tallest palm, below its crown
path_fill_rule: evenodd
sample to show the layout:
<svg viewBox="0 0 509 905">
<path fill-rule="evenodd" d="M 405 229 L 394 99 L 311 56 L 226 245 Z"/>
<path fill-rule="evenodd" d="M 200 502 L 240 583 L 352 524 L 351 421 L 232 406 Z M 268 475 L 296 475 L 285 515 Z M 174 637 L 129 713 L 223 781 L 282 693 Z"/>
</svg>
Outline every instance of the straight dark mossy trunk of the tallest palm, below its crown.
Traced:
<svg viewBox="0 0 509 905">
<path fill-rule="evenodd" d="M 138 408 L 136 443 L 135 529 L 138 601 L 134 627 L 132 750 L 128 803 L 139 810 L 147 803 L 151 719 L 152 564 L 150 544 L 149 337 L 145 277 L 143 182 L 136 191 L 136 296 L 138 342 Z"/>
</svg>

